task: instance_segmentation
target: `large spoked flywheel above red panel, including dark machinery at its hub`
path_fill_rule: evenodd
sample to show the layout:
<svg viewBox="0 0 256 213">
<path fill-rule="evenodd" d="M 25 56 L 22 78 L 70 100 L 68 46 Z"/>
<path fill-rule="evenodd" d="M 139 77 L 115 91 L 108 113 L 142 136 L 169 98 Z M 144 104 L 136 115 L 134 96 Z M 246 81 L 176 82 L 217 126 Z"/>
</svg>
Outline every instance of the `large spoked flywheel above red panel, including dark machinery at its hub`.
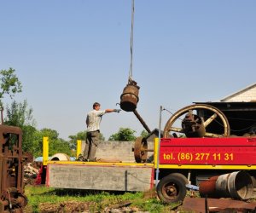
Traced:
<svg viewBox="0 0 256 213">
<path fill-rule="evenodd" d="M 210 112 L 211 116 L 204 117 L 206 111 Z M 178 120 L 182 121 L 182 128 L 173 127 Z M 218 124 L 218 130 L 207 132 L 207 126 L 213 122 Z M 164 138 L 172 137 L 171 133 L 173 135 L 183 133 L 187 137 L 228 137 L 230 136 L 230 124 L 218 108 L 207 104 L 194 104 L 183 107 L 169 118 L 164 129 Z"/>
</svg>

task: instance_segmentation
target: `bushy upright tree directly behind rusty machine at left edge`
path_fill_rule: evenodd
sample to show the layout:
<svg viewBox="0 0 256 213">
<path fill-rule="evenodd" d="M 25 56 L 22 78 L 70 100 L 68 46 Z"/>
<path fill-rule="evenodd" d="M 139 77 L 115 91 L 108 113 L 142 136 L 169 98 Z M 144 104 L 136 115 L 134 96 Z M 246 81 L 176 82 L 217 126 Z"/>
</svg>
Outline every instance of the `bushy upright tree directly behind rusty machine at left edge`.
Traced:
<svg viewBox="0 0 256 213">
<path fill-rule="evenodd" d="M 27 101 L 18 103 L 13 101 L 6 107 L 6 118 L 4 124 L 18 126 L 23 132 L 22 149 L 24 152 L 32 153 L 32 141 L 36 132 L 35 120 L 32 117 L 32 108 L 27 107 Z"/>
</svg>

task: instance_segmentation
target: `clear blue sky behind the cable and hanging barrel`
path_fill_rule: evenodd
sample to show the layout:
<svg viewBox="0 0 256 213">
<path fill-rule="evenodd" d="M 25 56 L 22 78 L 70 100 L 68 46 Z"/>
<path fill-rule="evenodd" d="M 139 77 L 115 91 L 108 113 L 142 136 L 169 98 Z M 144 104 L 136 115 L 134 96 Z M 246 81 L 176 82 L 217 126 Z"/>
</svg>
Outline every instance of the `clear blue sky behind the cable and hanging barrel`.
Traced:
<svg viewBox="0 0 256 213">
<path fill-rule="evenodd" d="M 116 108 L 130 67 L 131 0 L 0 0 L 0 69 L 13 67 L 37 128 L 63 139 L 85 130 L 93 102 Z M 256 1 L 135 0 L 133 79 L 148 127 L 255 83 Z M 6 97 L 3 100 L 9 102 Z M 162 113 L 162 126 L 171 117 Z M 108 139 L 142 124 L 132 112 L 102 118 Z"/>
</svg>

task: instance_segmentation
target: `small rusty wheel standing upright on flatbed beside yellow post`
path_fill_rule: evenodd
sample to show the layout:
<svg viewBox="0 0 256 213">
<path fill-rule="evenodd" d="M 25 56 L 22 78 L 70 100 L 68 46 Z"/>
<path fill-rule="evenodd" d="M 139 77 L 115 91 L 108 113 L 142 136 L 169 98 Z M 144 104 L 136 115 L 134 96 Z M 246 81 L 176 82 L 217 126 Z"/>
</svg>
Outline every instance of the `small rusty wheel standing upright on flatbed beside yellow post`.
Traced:
<svg viewBox="0 0 256 213">
<path fill-rule="evenodd" d="M 148 142 L 140 136 L 134 143 L 134 158 L 137 163 L 144 163 L 148 158 Z"/>
</svg>

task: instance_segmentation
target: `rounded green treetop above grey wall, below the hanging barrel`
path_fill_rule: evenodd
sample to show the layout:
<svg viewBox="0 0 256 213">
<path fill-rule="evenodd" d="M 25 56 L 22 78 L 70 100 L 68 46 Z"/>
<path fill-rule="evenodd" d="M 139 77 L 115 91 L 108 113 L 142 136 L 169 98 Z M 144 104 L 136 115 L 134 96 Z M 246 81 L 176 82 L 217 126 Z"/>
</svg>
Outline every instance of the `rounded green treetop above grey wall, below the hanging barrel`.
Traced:
<svg viewBox="0 0 256 213">
<path fill-rule="evenodd" d="M 118 133 L 110 135 L 108 141 L 135 141 L 136 136 L 135 130 L 131 130 L 129 128 L 120 128 Z"/>
</svg>

